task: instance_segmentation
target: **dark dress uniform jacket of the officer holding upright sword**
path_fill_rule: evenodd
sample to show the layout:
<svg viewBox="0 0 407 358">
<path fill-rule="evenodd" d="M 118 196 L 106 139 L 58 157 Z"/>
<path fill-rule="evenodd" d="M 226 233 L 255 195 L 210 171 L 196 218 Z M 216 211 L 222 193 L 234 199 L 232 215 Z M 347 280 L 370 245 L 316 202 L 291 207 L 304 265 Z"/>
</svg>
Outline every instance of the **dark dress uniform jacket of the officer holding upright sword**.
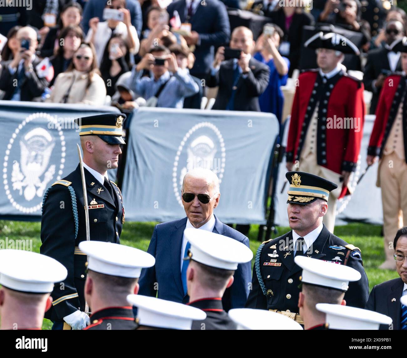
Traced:
<svg viewBox="0 0 407 358">
<path fill-rule="evenodd" d="M 119 188 L 112 181 L 115 199 L 90 172 L 84 168 L 88 192 L 90 240 L 120 243 L 124 208 Z M 96 202 L 96 204 L 93 204 Z M 93 205 L 92 205 L 93 204 Z M 75 310 L 85 310 L 83 293 L 87 256 L 79 250 L 86 240 L 85 208 L 81 171 L 78 167 L 55 182 L 45 193 L 41 218 L 40 253 L 61 262 L 68 276 L 56 283 L 51 293 L 53 304 L 45 318 L 61 321 Z"/>
</svg>

